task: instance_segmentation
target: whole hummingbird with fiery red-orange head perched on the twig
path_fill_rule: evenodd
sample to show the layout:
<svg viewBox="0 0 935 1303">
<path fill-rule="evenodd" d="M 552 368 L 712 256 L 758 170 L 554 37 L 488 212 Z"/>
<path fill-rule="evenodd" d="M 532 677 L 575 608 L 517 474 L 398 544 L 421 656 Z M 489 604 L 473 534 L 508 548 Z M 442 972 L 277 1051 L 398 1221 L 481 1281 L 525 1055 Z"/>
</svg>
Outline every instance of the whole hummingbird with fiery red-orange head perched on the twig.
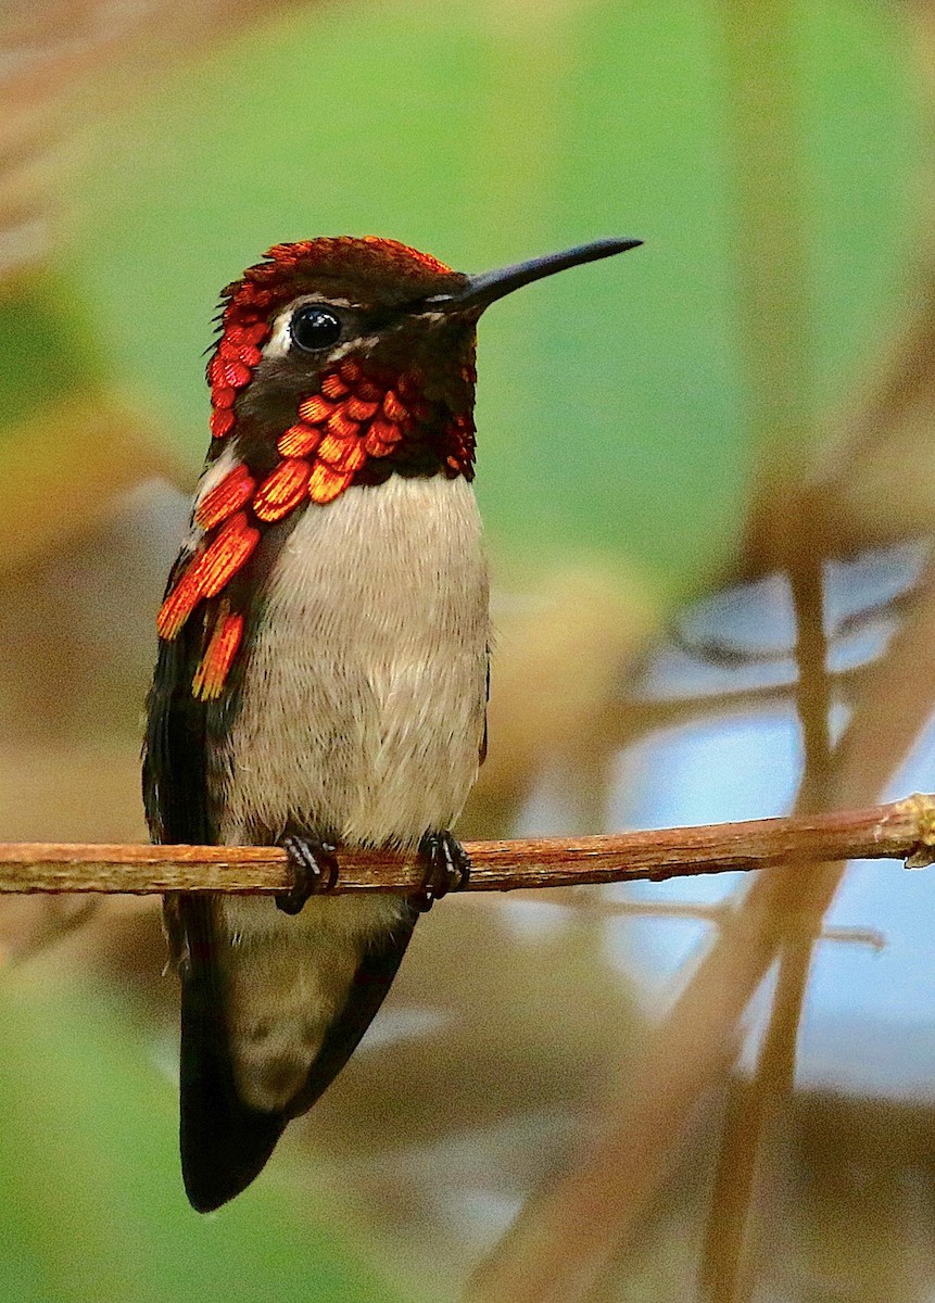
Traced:
<svg viewBox="0 0 935 1303">
<path fill-rule="evenodd" d="M 180 1148 L 208 1212 L 344 1067 L 421 912 L 466 885 L 452 833 L 487 745 L 477 323 L 633 249 L 465 275 L 395 240 L 279 244 L 221 293 L 211 444 L 158 615 L 143 796 L 155 842 L 281 846 L 275 898 L 173 893 Z M 341 848 L 418 852 L 417 896 L 329 895 Z"/>
</svg>

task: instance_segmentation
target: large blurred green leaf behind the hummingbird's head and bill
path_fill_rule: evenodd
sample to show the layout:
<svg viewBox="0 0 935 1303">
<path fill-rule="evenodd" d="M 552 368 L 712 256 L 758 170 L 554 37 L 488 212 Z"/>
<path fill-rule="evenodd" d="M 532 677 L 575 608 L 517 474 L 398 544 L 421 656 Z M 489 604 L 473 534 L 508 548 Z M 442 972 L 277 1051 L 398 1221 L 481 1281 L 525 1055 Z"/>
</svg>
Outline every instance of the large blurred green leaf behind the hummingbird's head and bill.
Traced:
<svg viewBox="0 0 935 1303">
<path fill-rule="evenodd" d="M 900 306 L 922 149 L 886 7 L 793 5 L 816 407 Z M 734 304 L 721 10 L 708 0 L 333 5 L 146 89 L 98 136 L 72 246 L 115 362 L 193 468 L 219 288 L 277 240 L 392 235 L 479 270 L 626 233 L 646 248 L 482 324 L 495 549 L 630 559 L 676 589 L 723 555 L 755 456 Z"/>
</svg>

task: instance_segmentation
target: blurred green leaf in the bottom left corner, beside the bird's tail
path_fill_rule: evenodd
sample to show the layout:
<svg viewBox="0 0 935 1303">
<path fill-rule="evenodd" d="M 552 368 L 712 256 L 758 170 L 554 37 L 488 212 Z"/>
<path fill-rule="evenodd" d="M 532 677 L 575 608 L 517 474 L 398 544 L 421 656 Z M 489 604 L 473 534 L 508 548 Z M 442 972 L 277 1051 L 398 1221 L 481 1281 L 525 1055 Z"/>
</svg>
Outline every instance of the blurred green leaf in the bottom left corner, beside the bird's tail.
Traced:
<svg viewBox="0 0 935 1303">
<path fill-rule="evenodd" d="M 17 1303 L 402 1298 L 270 1182 L 194 1213 L 174 1091 L 142 1035 L 112 997 L 34 975 L 0 986 L 0 1295 Z"/>
</svg>

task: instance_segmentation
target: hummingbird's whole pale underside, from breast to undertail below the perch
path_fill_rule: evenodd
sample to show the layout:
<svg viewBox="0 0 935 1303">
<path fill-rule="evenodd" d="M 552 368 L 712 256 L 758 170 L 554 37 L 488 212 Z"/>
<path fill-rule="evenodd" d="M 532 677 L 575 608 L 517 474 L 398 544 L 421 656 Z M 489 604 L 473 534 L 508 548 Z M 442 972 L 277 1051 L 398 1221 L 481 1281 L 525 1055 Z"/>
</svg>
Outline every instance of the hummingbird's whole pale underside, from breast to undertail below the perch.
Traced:
<svg viewBox="0 0 935 1303">
<path fill-rule="evenodd" d="M 349 489 L 310 507 L 270 577 L 242 704 L 210 783 L 220 842 L 332 835 L 413 847 L 449 829 L 478 769 L 487 572 L 465 480 Z M 340 863 L 340 851 L 339 851 Z M 217 958 L 242 1098 L 284 1108 L 363 954 L 412 928 L 401 896 L 221 896 Z"/>
</svg>

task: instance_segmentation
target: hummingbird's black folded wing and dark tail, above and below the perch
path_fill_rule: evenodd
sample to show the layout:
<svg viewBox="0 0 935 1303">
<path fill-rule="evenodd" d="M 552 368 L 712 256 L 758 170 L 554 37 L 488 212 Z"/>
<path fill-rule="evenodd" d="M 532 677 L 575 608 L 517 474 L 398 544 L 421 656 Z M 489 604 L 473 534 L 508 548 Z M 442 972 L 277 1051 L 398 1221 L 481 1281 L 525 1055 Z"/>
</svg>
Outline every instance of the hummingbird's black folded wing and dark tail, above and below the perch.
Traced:
<svg viewBox="0 0 935 1303">
<path fill-rule="evenodd" d="M 217 704 L 206 705 L 191 694 L 202 636 L 202 622 L 193 618 L 173 641 L 161 641 L 159 648 L 143 747 L 143 797 L 155 842 L 211 844 L 216 839 L 206 751 L 208 736 L 217 737 L 228 721 Z M 198 1212 L 219 1208 L 245 1190 L 262 1171 L 289 1119 L 311 1108 L 348 1062 L 389 990 L 417 917 L 414 909 L 406 909 L 392 936 L 365 956 L 345 1006 L 289 1108 L 263 1113 L 242 1104 L 234 1084 L 212 896 L 167 896 L 165 926 L 181 979 L 182 1179 Z"/>
</svg>

